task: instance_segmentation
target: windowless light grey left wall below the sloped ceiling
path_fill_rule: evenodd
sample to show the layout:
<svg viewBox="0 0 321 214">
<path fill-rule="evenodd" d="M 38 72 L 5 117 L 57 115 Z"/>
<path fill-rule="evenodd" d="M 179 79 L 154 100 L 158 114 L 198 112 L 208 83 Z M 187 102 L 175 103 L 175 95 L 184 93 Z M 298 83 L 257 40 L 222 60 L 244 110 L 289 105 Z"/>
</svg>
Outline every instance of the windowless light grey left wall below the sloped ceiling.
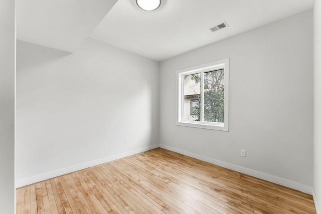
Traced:
<svg viewBox="0 0 321 214">
<path fill-rule="evenodd" d="M 75 54 L 18 41 L 17 185 L 158 147 L 158 70 L 92 39 Z"/>
</svg>

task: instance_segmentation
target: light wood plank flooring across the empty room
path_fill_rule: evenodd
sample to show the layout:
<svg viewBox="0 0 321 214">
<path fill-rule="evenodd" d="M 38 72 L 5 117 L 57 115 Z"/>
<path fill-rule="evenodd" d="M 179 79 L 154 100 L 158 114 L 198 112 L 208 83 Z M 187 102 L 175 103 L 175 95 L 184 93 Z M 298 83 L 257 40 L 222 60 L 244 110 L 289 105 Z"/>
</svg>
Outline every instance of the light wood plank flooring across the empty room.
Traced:
<svg viewBox="0 0 321 214">
<path fill-rule="evenodd" d="M 16 192 L 17 213 L 315 213 L 309 194 L 161 148 Z"/>
</svg>

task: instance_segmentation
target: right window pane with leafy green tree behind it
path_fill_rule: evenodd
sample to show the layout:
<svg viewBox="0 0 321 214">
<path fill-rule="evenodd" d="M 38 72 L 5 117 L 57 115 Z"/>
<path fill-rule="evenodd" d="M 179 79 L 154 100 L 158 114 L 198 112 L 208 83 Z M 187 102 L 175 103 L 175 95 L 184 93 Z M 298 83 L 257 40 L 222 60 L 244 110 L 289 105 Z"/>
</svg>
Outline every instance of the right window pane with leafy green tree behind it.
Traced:
<svg viewBox="0 0 321 214">
<path fill-rule="evenodd" d="M 224 123 L 224 69 L 204 72 L 204 121 Z"/>
</svg>

